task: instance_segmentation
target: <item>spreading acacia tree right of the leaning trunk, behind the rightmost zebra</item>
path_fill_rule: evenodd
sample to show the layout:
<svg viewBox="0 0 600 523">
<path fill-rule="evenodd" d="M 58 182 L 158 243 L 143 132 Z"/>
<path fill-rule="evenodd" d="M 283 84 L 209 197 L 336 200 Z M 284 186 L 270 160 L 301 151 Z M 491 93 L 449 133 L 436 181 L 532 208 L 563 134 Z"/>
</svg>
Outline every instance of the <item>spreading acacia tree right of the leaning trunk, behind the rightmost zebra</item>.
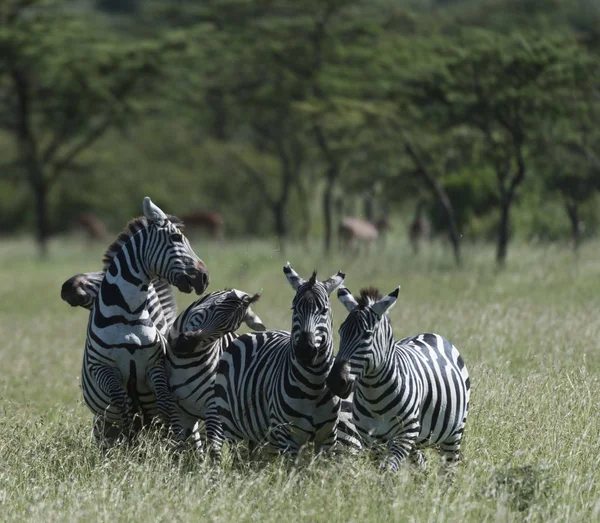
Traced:
<svg viewBox="0 0 600 523">
<path fill-rule="evenodd" d="M 537 33 L 505 37 L 478 30 L 434 49 L 441 59 L 409 82 L 412 100 L 440 130 L 467 126 L 479 133 L 496 176 L 496 261 L 502 265 L 510 211 L 527 176 L 528 147 L 540 123 L 564 109 L 560 93 L 573 84 L 567 69 L 577 48 Z"/>
</svg>

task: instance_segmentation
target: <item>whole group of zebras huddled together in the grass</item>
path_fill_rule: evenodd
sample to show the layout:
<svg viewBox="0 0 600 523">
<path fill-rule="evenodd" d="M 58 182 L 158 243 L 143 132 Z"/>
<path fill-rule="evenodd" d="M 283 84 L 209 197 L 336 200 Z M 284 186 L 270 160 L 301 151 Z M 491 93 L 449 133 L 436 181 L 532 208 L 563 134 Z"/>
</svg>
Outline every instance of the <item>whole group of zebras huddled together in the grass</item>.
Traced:
<svg viewBox="0 0 600 523">
<path fill-rule="evenodd" d="M 158 421 L 180 445 L 202 449 L 204 439 L 217 463 L 226 440 L 291 456 L 307 443 L 355 452 L 383 443 L 392 471 L 407 457 L 423 464 L 425 446 L 458 459 L 466 367 L 437 334 L 394 340 L 387 311 L 399 288 L 387 296 L 363 289 L 355 299 L 343 273 L 305 280 L 288 263 L 291 332 L 267 330 L 252 310 L 259 295 L 236 289 L 206 294 L 176 316 L 171 285 L 202 294 L 208 270 L 180 220 L 147 197 L 143 210 L 108 248 L 102 271 L 77 274 L 61 291 L 90 311 L 81 388 L 101 447 Z M 336 289 L 349 314 L 334 355 Z M 242 323 L 253 332 L 237 335 Z"/>
</svg>

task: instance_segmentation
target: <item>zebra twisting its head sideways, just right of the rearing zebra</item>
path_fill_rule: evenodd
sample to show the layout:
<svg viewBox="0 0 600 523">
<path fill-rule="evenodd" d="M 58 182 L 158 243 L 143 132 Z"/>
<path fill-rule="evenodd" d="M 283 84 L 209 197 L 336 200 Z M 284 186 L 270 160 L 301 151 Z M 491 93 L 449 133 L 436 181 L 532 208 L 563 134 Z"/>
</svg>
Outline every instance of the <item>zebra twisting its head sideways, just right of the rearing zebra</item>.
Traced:
<svg viewBox="0 0 600 523">
<path fill-rule="evenodd" d="M 189 305 L 168 332 L 166 370 L 175 401 L 174 424 L 182 428 L 177 439 L 194 436 L 200 449 L 198 420 L 204 420 L 212 398 L 219 358 L 242 322 L 255 331 L 266 327 L 251 305 L 260 295 L 237 289 L 207 294 Z"/>
</svg>

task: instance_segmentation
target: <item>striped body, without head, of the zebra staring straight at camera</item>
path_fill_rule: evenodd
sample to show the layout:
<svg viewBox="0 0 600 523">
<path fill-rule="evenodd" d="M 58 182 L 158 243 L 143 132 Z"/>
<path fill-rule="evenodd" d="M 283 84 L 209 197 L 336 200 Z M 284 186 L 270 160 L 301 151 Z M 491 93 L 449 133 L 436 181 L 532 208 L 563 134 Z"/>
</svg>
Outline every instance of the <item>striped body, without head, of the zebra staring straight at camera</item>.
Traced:
<svg viewBox="0 0 600 523">
<path fill-rule="evenodd" d="M 335 443 L 339 399 L 325 386 L 333 357 L 302 366 L 290 333 L 243 334 L 221 358 L 216 401 L 224 437 L 297 452 Z"/>
</svg>

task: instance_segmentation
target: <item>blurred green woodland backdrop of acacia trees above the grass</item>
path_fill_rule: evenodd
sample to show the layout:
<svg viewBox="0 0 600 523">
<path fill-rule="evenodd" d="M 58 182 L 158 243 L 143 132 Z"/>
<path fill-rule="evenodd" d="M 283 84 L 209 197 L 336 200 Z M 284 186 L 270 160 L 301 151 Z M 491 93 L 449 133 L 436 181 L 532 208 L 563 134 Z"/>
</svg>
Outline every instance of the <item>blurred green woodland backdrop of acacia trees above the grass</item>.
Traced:
<svg viewBox="0 0 600 523">
<path fill-rule="evenodd" d="M 150 195 L 279 249 L 576 250 L 599 57 L 597 0 L 2 0 L 0 238 L 107 245 Z"/>
</svg>

